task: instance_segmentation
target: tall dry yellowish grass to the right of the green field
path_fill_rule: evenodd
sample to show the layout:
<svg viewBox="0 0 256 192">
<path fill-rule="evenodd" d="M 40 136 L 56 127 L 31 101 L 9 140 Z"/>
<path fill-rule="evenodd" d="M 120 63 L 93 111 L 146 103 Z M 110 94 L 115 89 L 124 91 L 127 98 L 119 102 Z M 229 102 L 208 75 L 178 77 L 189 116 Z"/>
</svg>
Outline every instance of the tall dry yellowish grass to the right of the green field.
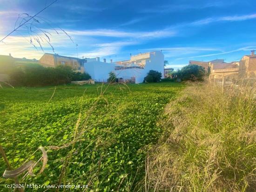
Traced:
<svg viewBox="0 0 256 192">
<path fill-rule="evenodd" d="M 146 159 L 144 191 L 256 190 L 256 98 L 193 85 L 165 109 L 165 131 Z"/>
</svg>

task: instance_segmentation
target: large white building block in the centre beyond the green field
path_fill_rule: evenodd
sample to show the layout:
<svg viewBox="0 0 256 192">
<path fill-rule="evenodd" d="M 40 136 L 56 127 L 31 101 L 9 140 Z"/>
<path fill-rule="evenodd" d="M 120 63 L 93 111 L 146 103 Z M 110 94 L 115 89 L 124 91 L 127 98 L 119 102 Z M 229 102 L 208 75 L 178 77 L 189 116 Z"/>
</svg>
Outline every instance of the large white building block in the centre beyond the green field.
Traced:
<svg viewBox="0 0 256 192">
<path fill-rule="evenodd" d="M 117 61 L 115 63 L 112 63 L 112 60 L 107 63 L 105 59 L 101 62 L 98 57 L 87 59 L 86 63 L 84 63 L 84 68 L 95 81 L 106 82 L 109 76 L 108 73 L 114 72 L 119 79 L 124 81 L 131 80 L 135 81 L 135 83 L 142 83 L 149 70 L 164 74 L 163 61 L 162 52 L 156 51 L 133 55 L 130 60 Z"/>
</svg>

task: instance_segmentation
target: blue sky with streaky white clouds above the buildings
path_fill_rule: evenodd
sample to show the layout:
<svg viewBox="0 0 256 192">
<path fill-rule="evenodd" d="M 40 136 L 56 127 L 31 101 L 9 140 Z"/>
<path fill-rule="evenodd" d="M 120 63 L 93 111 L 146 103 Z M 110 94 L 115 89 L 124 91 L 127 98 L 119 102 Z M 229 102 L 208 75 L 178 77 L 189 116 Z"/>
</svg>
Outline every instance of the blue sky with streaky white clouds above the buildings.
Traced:
<svg viewBox="0 0 256 192">
<path fill-rule="evenodd" d="M 0 0 L 0 40 L 52 2 Z M 0 42 L 0 54 L 28 59 L 116 61 L 162 50 L 175 69 L 189 60 L 240 60 L 253 49 L 256 0 L 57 0 Z"/>
</svg>

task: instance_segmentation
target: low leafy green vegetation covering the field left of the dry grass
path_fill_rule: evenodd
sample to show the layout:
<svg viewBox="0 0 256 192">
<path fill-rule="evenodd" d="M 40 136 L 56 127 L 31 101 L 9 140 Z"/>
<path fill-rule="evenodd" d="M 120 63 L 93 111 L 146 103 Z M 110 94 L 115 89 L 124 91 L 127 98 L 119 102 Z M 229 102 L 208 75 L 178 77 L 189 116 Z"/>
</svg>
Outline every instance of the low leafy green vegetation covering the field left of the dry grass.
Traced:
<svg viewBox="0 0 256 192">
<path fill-rule="evenodd" d="M 135 190 L 145 174 L 148 147 L 162 134 L 157 122 L 163 109 L 184 86 L 155 83 L 107 87 L 57 86 L 55 93 L 52 86 L 0 89 L 0 143 L 11 166 L 18 167 L 29 157 L 39 159 L 40 151 L 35 152 L 39 146 L 48 150 L 45 171 L 34 178 L 20 176 L 20 182 L 56 185 L 64 162 L 70 160 L 63 178 L 66 184 L 88 185 L 92 191 Z M 75 127 L 79 138 L 74 146 L 59 150 L 47 147 L 70 143 Z M 0 165 L 2 174 L 7 168 L 2 158 Z M 40 165 L 34 168 L 35 173 Z M 6 183 L 13 181 L 0 179 L 0 186 Z"/>
</svg>

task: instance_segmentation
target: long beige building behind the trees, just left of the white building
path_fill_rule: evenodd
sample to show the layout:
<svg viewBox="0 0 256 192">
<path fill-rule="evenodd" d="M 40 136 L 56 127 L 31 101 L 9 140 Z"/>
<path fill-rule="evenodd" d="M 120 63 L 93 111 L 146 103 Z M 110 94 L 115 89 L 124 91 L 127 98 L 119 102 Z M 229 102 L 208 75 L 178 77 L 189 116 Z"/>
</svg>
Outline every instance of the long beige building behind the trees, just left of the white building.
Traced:
<svg viewBox="0 0 256 192">
<path fill-rule="evenodd" d="M 39 64 L 45 67 L 56 67 L 60 65 L 71 66 L 74 70 L 84 73 L 86 59 L 61 56 L 58 54 L 45 53 L 39 60 Z"/>
</svg>

